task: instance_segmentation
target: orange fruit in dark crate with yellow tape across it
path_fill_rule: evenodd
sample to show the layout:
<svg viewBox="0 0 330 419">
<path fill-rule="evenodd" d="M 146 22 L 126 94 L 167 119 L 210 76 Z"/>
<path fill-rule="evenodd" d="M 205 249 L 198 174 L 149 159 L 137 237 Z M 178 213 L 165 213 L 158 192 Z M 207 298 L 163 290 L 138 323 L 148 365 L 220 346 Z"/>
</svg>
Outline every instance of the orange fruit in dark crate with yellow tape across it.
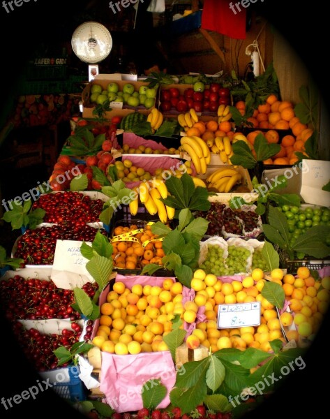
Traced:
<svg viewBox="0 0 330 419">
<path fill-rule="evenodd" d="M 114 228 L 114 236 L 120 236 L 137 229 L 135 224 L 130 227 L 117 226 Z M 152 233 L 150 226 L 146 226 L 142 232 L 130 237 L 135 237 L 137 241 L 125 240 L 125 237 L 120 241 L 112 241 L 114 267 L 135 270 L 142 269 L 149 263 L 163 265 L 162 258 L 165 256 L 163 242 L 156 241 L 157 236 Z"/>
</svg>

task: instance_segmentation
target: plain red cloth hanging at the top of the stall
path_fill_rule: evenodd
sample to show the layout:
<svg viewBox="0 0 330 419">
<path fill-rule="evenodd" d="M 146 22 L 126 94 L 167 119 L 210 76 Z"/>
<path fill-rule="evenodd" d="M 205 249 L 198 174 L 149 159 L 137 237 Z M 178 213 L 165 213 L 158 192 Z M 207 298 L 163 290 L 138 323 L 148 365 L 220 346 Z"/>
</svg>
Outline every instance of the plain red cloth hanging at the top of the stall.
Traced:
<svg viewBox="0 0 330 419">
<path fill-rule="evenodd" d="M 246 8 L 235 0 L 204 0 L 201 27 L 230 38 L 245 39 Z"/>
</svg>

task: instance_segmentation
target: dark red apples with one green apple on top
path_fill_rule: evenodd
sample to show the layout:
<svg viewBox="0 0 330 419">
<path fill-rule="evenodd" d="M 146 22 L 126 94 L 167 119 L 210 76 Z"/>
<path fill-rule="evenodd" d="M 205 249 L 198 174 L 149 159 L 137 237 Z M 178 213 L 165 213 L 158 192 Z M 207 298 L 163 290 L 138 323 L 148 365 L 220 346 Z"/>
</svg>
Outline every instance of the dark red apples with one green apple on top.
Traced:
<svg viewBox="0 0 330 419">
<path fill-rule="evenodd" d="M 203 82 L 195 82 L 182 94 L 178 87 L 160 90 L 160 109 L 163 112 L 187 112 L 190 108 L 196 112 L 217 112 L 222 104 L 230 105 L 230 89 L 219 83 L 207 87 Z"/>
</svg>

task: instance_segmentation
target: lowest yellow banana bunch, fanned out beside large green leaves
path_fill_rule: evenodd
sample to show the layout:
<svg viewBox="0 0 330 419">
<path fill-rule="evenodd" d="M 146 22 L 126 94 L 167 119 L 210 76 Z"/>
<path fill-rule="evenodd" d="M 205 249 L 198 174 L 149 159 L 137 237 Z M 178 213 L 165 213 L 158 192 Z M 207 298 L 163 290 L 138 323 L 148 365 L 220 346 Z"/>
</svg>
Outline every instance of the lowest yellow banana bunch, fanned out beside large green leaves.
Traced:
<svg viewBox="0 0 330 419">
<path fill-rule="evenodd" d="M 167 186 L 162 179 L 153 177 L 150 182 L 142 182 L 135 191 L 137 192 L 136 198 L 129 203 L 130 214 L 137 214 L 140 198 L 141 203 L 144 204 L 144 207 L 146 207 L 149 214 L 158 214 L 162 223 L 167 223 L 167 220 L 172 220 L 174 218 L 175 209 L 168 207 L 160 200 L 160 198 L 165 199 L 170 195 L 167 191 Z"/>
</svg>

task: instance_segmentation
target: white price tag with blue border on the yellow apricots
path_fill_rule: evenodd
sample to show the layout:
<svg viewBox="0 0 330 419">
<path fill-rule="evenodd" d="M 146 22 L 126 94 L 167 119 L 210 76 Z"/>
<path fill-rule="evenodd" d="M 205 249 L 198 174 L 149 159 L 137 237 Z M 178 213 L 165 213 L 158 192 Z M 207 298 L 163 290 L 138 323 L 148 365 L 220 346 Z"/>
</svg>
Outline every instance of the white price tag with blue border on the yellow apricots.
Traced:
<svg viewBox="0 0 330 419">
<path fill-rule="evenodd" d="M 220 304 L 218 329 L 258 326 L 260 325 L 260 311 L 260 301 L 243 304 Z"/>
</svg>

